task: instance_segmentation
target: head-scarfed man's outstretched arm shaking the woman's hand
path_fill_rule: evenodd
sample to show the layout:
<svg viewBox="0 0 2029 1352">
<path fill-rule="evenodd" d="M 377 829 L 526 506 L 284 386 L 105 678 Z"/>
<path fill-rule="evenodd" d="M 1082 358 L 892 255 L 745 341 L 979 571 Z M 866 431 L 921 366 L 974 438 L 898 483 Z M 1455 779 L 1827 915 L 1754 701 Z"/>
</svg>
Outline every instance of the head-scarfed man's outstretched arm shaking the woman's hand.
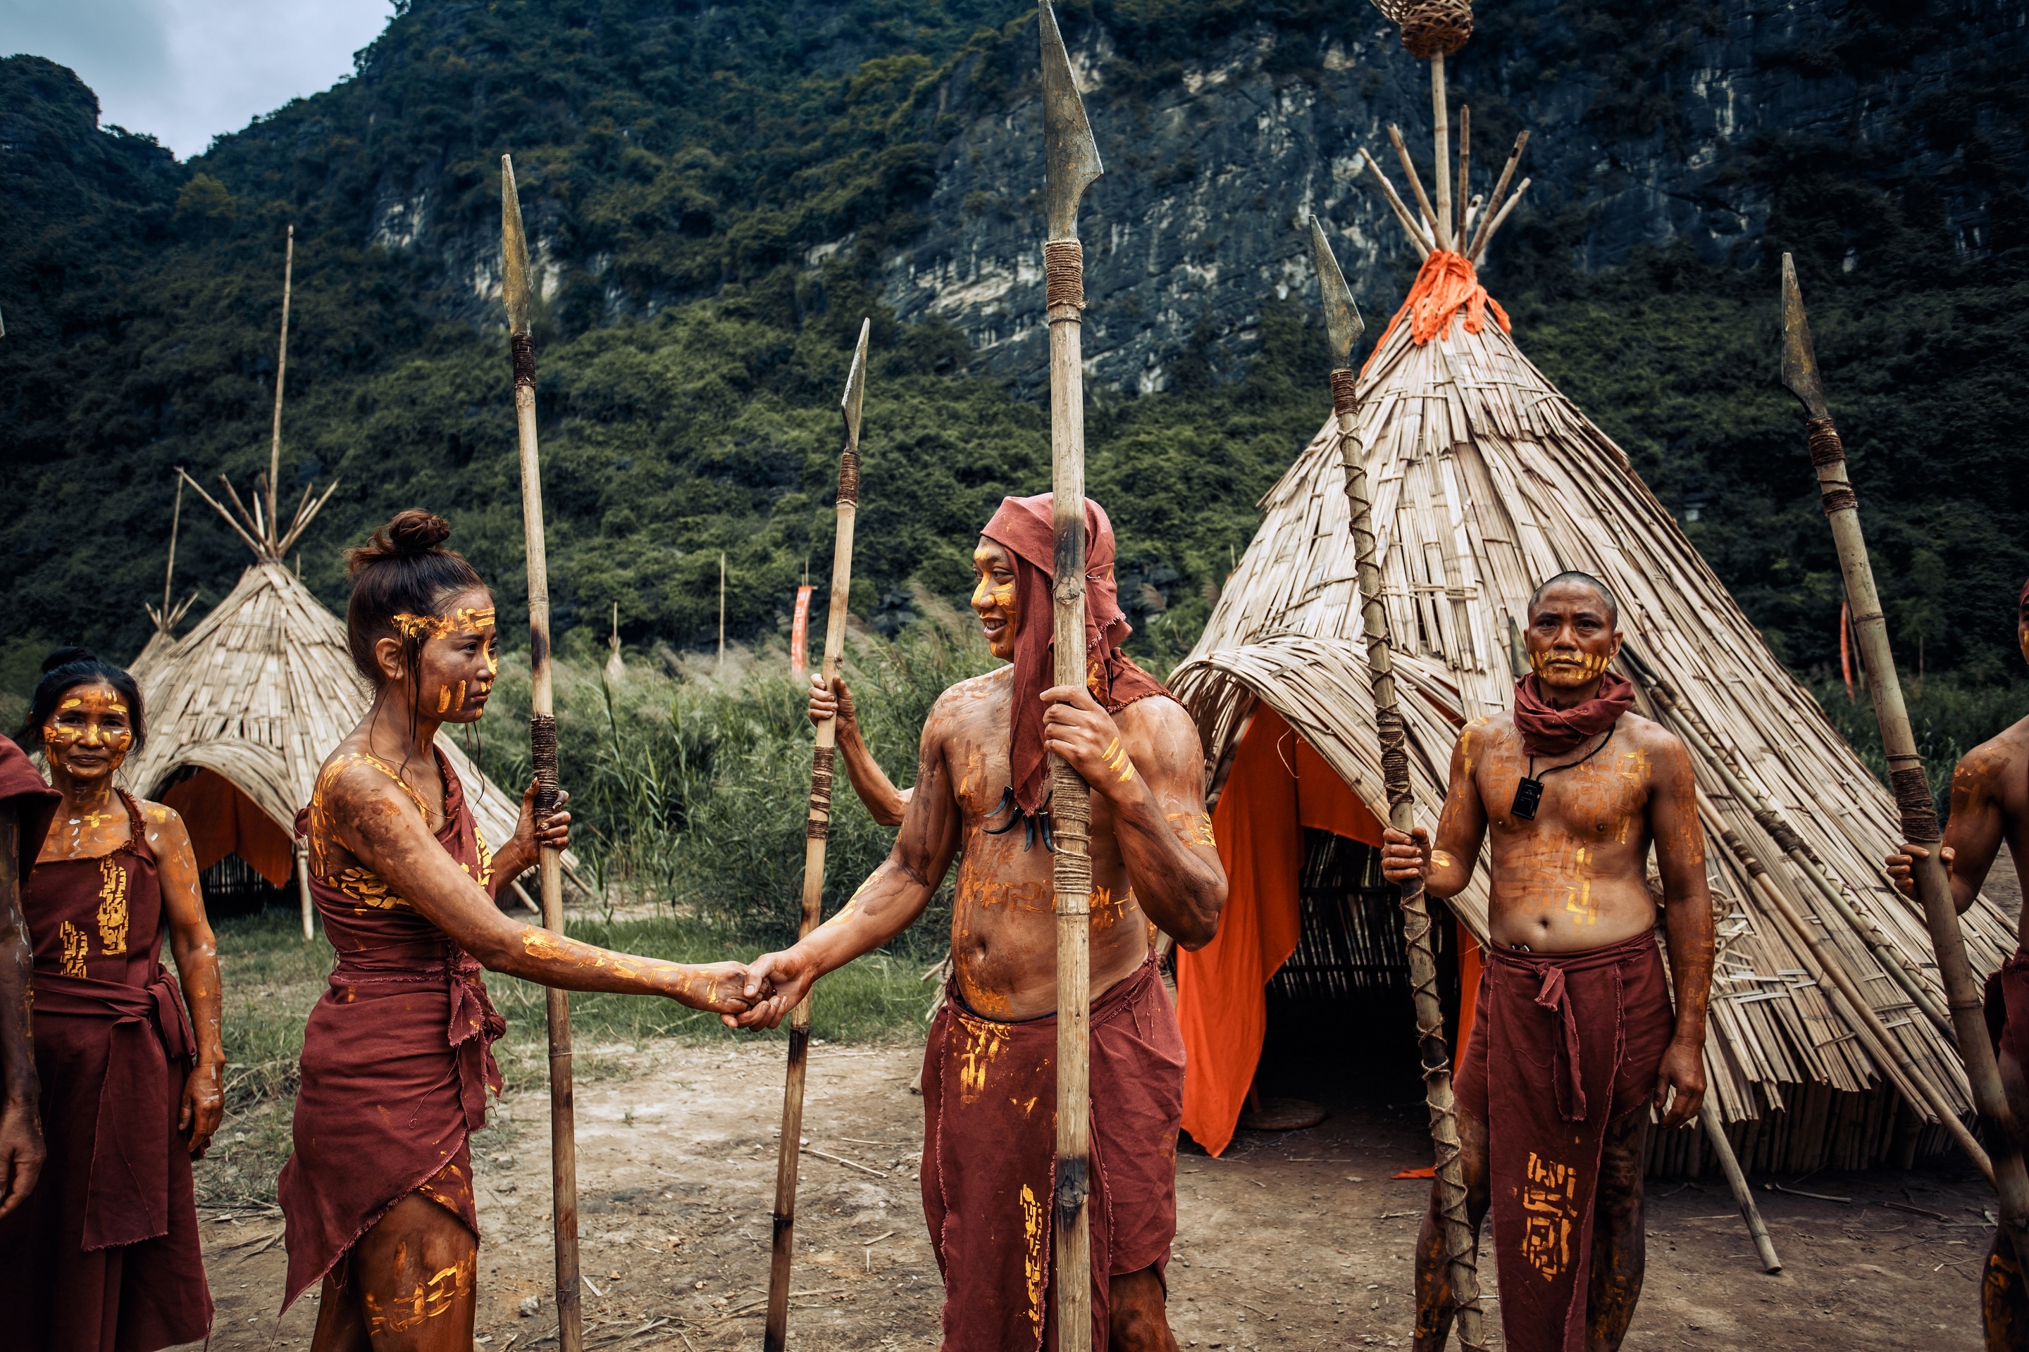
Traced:
<svg viewBox="0 0 2029 1352">
<path fill-rule="evenodd" d="M 939 699 L 923 724 L 917 750 L 915 793 L 901 819 L 901 833 L 881 868 L 860 884 L 836 916 L 781 953 L 763 953 L 747 967 L 745 1013 L 724 1016 L 726 1028 L 775 1028 L 828 971 L 872 953 L 915 924 L 958 853 L 958 801 L 943 768 L 943 736 L 952 724 Z M 773 985 L 773 991 L 769 987 Z M 763 995 L 767 995 L 763 999 Z"/>
</svg>

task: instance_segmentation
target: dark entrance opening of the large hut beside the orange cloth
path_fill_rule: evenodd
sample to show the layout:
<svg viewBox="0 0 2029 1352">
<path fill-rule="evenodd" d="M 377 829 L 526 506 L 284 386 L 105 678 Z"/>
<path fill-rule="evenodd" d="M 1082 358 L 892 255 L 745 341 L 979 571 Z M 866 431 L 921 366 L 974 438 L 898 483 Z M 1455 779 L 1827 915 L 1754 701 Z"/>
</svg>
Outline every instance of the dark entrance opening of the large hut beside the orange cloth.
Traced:
<svg viewBox="0 0 2029 1352">
<path fill-rule="evenodd" d="M 1378 849 L 1305 827 L 1301 930 L 1297 951 L 1268 981 L 1268 1034 L 1254 1074 L 1260 1095 L 1321 1105 L 1422 1097 L 1398 898 Z M 1430 910 L 1445 1030 L 1455 1034 L 1457 926 L 1435 898 Z"/>
</svg>

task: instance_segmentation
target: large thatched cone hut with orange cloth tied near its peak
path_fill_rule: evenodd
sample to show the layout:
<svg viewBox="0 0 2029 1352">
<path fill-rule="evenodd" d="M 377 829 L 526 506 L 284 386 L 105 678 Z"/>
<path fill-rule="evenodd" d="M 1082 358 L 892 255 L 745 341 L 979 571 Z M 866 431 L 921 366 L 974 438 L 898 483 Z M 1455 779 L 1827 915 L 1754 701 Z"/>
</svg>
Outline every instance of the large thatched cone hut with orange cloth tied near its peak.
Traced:
<svg viewBox="0 0 2029 1352">
<path fill-rule="evenodd" d="M 1406 152 L 1402 162 L 1408 166 Z M 1526 620 L 1534 586 L 1564 570 L 1599 576 L 1621 600 L 1629 651 L 1621 667 L 1641 691 L 1637 707 L 1684 736 L 1704 791 L 1706 857 L 1723 910 L 1706 1072 L 1741 1163 L 1863 1168 L 1942 1149 L 1950 1131 L 1962 1131 L 1944 1119 L 1960 1119 L 1972 1105 L 1952 1036 L 1934 1018 L 1944 991 L 1921 912 L 1879 868 L 1899 839 L 1891 797 L 1761 643 L 1621 448 L 1516 347 L 1469 261 L 1491 231 L 1481 229 L 1467 253 L 1467 231 L 1459 229 L 1461 247 L 1443 249 L 1447 231 L 1430 227 L 1426 209 L 1414 219 L 1380 166 L 1372 158 L 1366 166 L 1426 255 L 1410 302 L 1361 371 L 1351 448 L 1374 495 L 1418 819 L 1435 825 L 1439 817 L 1459 728 L 1512 699 L 1518 671 L 1510 634 Z M 1414 201 L 1426 203 L 1420 184 L 1412 189 Z M 1485 203 L 1483 221 L 1493 207 Z M 1499 219 L 1491 215 L 1493 225 Z M 1270 728 L 1278 758 L 1301 784 L 1303 762 L 1288 754 L 1292 730 L 1299 750 L 1386 819 L 1335 422 L 1260 509 L 1262 527 L 1171 687 L 1195 716 L 1215 776 L 1244 762 L 1248 744 Z M 1272 809 L 1270 817 L 1276 811 L 1288 813 Z M 1299 811 L 1305 825 L 1317 825 Z M 1307 857 L 1303 868 L 1313 874 L 1319 861 Z M 1260 888 L 1264 900 L 1248 896 L 1244 878 L 1234 880 L 1228 924 L 1238 918 L 1242 928 L 1280 936 L 1248 941 L 1266 959 L 1256 981 L 1274 971 L 1276 953 L 1305 945 L 1341 951 L 1311 953 L 1313 977 L 1339 971 L 1341 985 L 1359 977 L 1372 963 L 1343 953 L 1345 934 L 1357 938 L 1376 922 L 1325 916 L 1331 932 L 1307 930 L 1299 941 L 1297 918 L 1280 914 L 1311 884 L 1299 882 L 1303 888 Z M 1481 943 L 1485 886 L 1481 866 L 1451 902 Z M 1303 924 L 1315 928 L 1305 896 Z M 2015 949 L 2013 926 L 1984 898 L 1966 914 L 1964 932 L 1980 971 Z M 1187 1038 L 1193 1018 L 1199 1026 L 1234 1020 L 1232 1009 L 1193 1011 L 1193 985 L 1238 989 L 1230 971 L 1223 987 L 1193 981 L 1201 961 L 1179 961 Z M 1842 969 L 1844 989 L 1832 967 Z M 1406 1009 L 1406 979 L 1400 989 Z M 1850 989 L 1863 993 L 1867 1009 L 1850 1003 Z M 1203 1050 L 1191 1046 L 1193 1064 Z M 1228 1082 L 1238 1076 L 1244 1084 L 1252 1074 L 1252 1060 L 1226 1068 Z M 1187 1115 L 1185 1125 L 1223 1145 L 1232 1117 L 1221 1125 Z M 1654 1172 L 1704 1163 L 1696 1131 L 1654 1141 Z"/>
</svg>

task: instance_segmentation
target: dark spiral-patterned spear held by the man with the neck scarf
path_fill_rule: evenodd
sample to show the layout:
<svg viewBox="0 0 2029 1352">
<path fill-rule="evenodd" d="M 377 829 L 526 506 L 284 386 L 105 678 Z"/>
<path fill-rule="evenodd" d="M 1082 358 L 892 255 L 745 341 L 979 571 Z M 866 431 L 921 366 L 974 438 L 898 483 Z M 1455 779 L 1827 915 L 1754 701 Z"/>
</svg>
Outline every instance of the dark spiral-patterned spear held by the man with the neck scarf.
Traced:
<svg viewBox="0 0 2029 1352">
<path fill-rule="evenodd" d="M 1382 778 L 1388 788 L 1388 825 L 1410 831 L 1416 801 L 1408 784 L 1408 744 L 1396 705 L 1394 663 L 1388 641 L 1388 610 L 1382 604 L 1382 570 L 1374 553 L 1374 505 L 1368 499 L 1368 466 L 1359 454 L 1353 395 L 1359 373 L 1353 347 L 1366 324 L 1345 286 L 1339 259 L 1325 239 L 1325 227 L 1311 217 L 1311 253 L 1325 298 L 1325 336 L 1331 343 L 1331 409 L 1339 420 L 1339 458 L 1345 464 L 1345 503 L 1351 511 L 1353 559 L 1359 574 L 1359 610 L 1366 620 L 1368 675 L 1374 681 L 1374 726 L 1382 742 Z M 1416 999 L 1416 1046 L 1422 1054 L 1422 1097 L 1430 1109 L 1430 1143 L 1437 1147 L 1437 1194 L 1445 1224 L 1445 1255 L 1451 1267 L 1451 1295 L 1459 1320 L 1459 1346 L 1483 1350 L 1479 1328 L 1479 1269 L 1473 1259 L 1477 1234 L 1465 1214 L 1465 1170 L 1459 1166 L 1459 1107 L 1451 1095 L 1451 1046 L 1445 1042 L 1445 1007 L 1437 999 L 1437 951 L 1430 945 L 1430 912 L 1422 902 L 1422 882 L 1402 884 L 1402 932 L 1408 938 L 1408 979 Z"/>
</svg>

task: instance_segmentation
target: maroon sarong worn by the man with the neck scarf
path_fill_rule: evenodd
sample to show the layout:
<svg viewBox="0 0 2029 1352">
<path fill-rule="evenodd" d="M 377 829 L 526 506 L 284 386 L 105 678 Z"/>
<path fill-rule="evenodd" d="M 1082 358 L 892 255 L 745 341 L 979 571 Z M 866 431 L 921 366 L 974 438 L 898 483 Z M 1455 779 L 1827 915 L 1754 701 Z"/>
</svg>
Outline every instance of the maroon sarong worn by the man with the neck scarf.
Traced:
<svg viewBox="0 0 2029 1352">
<path fill-rule="evenodd" d="M 1510 1352 L 1585 1350 L 1607 1123 L 1646 1111 L 1674 1032 L 1654 930 L 1587 953 L 1489 951 L 1455 1086 L 1487 1123 Z"/>
</svg>

